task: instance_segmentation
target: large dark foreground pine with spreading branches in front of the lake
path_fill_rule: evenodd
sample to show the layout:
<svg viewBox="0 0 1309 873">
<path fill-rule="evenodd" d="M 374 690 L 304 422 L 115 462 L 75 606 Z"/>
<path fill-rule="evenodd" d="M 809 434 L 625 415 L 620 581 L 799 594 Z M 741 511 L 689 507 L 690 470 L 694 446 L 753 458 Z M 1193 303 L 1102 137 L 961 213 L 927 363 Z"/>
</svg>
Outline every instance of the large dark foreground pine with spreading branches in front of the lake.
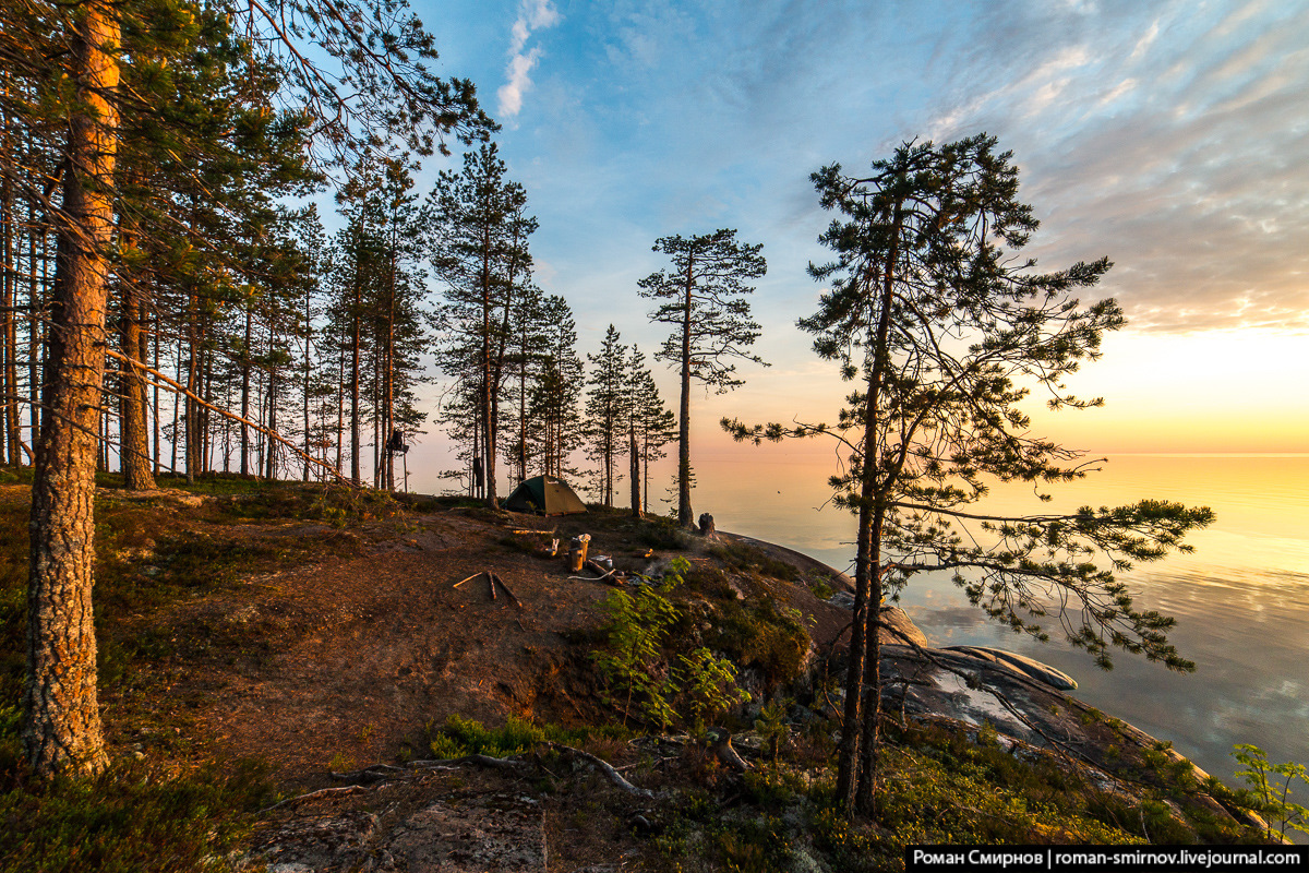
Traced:
<svg viewBox="0 0 1309 873">
<path fill-rule="evenodd" d="M 1017 255 L 1037 221 L 994 137 L 906 144 L 872 170 L 851 178 L 833 165 L 812 177 L 839 216 L 821 238 L 835 260 L 810 267 L 830 291 L 800 326 L 857 382 L 848 406 L 834 428 L 724 421 L 741 438 L 831 435 L 846 452 L 833 483 L 835 503 L 859 520 L 836 781 L 850 810 L 870 810 L 877 784 L 885 596 L 918 573 L 950 571 L 973 603 L 1017 631 L 1043 640 L 1039 616 L 1059 615 L 1069 641 L 1105 668 L 1119 647 L 1189 670 L 1165 636 L 1173 620 L 1134 607 L 1114 571 L 1185 548 L 1182 535 L 1212 518 L 1148 500 L 1072 514 L 971 509 L 988 482 L 1042 490 L 1085 474 L 1079 452 L 1030 435 L 1018 403 L 1031 387 L 1055 408 L 1100 403 L 1071 395 L 1063 378 L 1123 325 L 1113 300 L 1072 297 L 1110 264 L 1037 274 Z"/>
</svg>

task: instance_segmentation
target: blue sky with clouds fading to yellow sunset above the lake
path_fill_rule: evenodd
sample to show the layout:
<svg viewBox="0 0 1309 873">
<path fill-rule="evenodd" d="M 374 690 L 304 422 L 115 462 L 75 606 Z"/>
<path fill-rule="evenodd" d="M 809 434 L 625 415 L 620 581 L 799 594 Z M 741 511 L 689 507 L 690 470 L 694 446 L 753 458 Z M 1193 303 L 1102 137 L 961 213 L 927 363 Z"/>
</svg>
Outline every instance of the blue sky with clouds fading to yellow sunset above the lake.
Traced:
<svg viewBox="0 0 1309 873">
<path fill-rule="evenodd" d="M 983 131 L 1042 221 L 1028 253 L 1107 255 L 1084 298 L 1130 318 L 1069 382 L 1106 407 L 1034 408 L 1034 429 L 1092 452 L 1309 452 L 1309 1 L 412 3 L 437 72 L 476 82 L 503 126 L 537 280 L 583 351 L 610 322 L 648 355 L 662 342 L 636 285 L 665 266 L 658 237 L 763 243 L 772 366 L 696 393 L 698 455 L 732 450 L 723 415 L 835 418 L 844 386 L 795 326 L 831 217 L 809 174 Z"/>
</svg>

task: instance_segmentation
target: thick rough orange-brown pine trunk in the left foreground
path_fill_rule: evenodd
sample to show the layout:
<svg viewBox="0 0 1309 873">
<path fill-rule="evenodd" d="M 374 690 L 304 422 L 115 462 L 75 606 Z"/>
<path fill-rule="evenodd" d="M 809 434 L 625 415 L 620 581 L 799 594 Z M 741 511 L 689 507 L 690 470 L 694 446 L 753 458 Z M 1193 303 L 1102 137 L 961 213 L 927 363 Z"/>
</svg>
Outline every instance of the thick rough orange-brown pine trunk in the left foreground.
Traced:
<svg viewBox="0 0 1309 873">
<path fill-rule="evenodd" d="M 31 486 L 27 584 L 27 678 L 22 738 L 33 774 L 96 774 L 107 763 L 96 696 L 96 438 L 105 377 L 106 251 L 114 225 L 119 26 L 113 8 L 76 14 L 72 76 L 77 107 L 68 124 L 60 260 L 56 268 L 50 415 Z"/>
</svg>

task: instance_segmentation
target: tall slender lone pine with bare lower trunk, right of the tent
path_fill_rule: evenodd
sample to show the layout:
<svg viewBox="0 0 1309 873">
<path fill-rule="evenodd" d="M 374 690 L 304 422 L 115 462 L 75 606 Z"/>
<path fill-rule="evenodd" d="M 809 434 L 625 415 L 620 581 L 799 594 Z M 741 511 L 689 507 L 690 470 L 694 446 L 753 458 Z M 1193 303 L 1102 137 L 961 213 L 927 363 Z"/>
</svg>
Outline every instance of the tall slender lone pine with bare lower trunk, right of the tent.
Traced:
<svg viewBox="0 0 1309 873">
<path fill-rule="evenodd" d="M 675 365 L 682 377 L 678 414 L 677 520 L 683 527 L 695 524 L 691 510 L 691 380 L 723 394 L 740 385 L 734 360 L 764 364 L 747 349 L 759 338 L 759 325 L 750 319 L 746 281 L 767 271 L 762 245 L 737 242 L 736 230 L 683 238 L 661 237 L 654 251 L 672 259 L 640 280 L 641 296 L 661 302 L 651 321 L 674 330 L 656 359 Z"/>
</svg>

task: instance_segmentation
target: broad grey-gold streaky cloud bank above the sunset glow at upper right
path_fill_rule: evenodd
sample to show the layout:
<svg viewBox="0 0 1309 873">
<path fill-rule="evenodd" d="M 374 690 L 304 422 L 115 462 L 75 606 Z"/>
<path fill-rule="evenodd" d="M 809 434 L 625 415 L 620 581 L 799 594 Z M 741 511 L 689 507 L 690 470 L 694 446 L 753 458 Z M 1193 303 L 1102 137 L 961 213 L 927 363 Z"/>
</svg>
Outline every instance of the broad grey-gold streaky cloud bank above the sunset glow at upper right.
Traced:
<svg viewBox="0 0 1309 873">
<path fill-rule="evenodd" d="M 1000 135 L 1046 219 L 1035 254 L 1107 254 L 1135 329 L 1309 329 L 1304 8 L 1172 4 L 1088 29 L 1046 16 L 950 71 L 929 135 Z"/>
</svg>

